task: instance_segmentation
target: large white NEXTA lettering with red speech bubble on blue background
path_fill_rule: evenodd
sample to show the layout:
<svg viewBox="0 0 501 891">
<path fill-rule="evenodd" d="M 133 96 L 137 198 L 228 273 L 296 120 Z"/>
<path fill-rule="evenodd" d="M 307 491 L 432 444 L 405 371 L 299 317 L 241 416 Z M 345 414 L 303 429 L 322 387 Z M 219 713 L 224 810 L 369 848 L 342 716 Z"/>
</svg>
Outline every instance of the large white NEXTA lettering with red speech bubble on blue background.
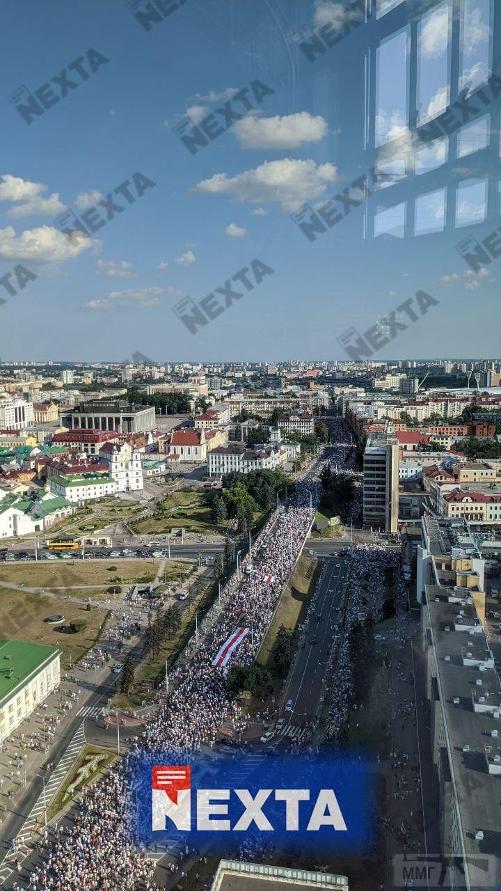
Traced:
<svg viewBox="0 0 501 891">
<path fill-rule="evenodd" d="M 192 814 L 192 798 L 196 813 Z M 152 830 L 346 832 L 333 789 L 193 789 L 186 764 L 152 767 Z"/>
</svg>

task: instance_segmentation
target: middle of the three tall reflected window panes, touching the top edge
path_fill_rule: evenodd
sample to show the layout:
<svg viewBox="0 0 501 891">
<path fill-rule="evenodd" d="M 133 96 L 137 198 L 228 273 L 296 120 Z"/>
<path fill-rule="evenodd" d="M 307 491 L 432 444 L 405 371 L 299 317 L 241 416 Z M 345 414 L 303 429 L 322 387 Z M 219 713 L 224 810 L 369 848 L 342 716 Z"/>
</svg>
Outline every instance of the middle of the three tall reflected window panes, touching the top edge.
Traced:
<svg viewBox="0 0 501 891">
<path fill-rule="evenodd" d="M 449 102 L 448 40 L 450 28 L 448 3 L 423 15 L 417 41 L 418 124 L 436 118 Z"/>
</svg>

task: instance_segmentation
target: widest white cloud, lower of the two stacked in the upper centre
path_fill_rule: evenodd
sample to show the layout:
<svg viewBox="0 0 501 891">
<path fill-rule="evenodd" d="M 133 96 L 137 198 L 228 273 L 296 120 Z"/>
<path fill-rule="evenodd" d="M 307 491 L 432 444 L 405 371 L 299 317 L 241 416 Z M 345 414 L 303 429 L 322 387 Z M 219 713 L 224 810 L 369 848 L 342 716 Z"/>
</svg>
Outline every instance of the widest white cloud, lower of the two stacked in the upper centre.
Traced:
<svg viewBox="0 0 501 891">
<path fill-rule="evenodd" d="M 225 173 L 217 173 L 201 180 L 196 189 L 205 194 L 232 195 L 236 200 L 255 204 L 275 201 L 283 210 L 297 210 L 305 201 L 320 198 L 326 186 L 338 178 L 333 164 L 316 165 L 314 160 L 283 158 L 230 178 Z"/>
</svg>

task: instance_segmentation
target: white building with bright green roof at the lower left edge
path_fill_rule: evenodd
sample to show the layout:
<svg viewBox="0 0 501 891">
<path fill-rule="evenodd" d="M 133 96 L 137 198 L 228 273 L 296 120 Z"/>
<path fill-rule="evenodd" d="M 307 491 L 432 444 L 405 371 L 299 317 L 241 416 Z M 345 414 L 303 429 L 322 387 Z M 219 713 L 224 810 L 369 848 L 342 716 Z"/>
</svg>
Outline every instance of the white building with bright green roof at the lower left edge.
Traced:
<svg viewBox="0 0 501 891">
<path fill-rule="evenodd" d="M 60 650 L 0 641 L 0 744 L 60 683 Z"/>
</svg>

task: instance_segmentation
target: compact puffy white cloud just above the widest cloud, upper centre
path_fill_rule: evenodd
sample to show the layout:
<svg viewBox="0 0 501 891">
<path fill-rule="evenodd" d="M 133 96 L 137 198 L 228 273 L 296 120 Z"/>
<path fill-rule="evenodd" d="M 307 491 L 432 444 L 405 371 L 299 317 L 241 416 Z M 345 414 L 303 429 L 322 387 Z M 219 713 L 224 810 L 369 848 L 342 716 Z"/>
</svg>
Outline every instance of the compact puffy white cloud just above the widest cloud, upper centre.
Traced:
<svg viewBox="0 0 501 891">
<path fill-rule="evenodd" d="M 303 143 L 318 143 L 327 133 L 322 115 L 308 111 L 259 118 L 247 115 L 234 124 L 234 134 L 243 149 L 297 149 Z"/>
</svg>

